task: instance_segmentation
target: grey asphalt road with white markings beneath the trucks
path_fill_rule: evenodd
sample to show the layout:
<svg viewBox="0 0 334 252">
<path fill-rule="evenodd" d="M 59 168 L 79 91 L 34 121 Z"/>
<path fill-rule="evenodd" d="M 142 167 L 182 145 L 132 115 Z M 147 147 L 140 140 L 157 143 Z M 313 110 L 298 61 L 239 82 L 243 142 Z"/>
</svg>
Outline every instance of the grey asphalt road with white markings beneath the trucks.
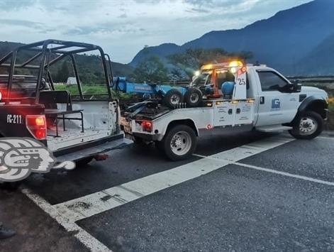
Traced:
<svg viewBox="0 0 334 252">
<path fill-rule="evenodd" d="M 33 175 L 1 192 L 18 234 L 0 251 L 334 251 L 333 150 L 328 137 L 227 133 L 187 161 L 130 146 Z"/>
</svg>

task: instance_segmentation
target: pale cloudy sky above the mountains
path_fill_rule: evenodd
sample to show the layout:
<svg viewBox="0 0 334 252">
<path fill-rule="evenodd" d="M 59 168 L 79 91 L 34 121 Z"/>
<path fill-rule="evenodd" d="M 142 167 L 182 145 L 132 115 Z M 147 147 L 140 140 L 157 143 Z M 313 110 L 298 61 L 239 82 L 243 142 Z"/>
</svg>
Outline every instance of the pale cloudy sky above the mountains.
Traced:
<svg viewBox="0 0 334 252">
<path fill-rule="evenodd" d="M 95 43 L 128 63 L 145 45 L 243 28 L 311 0 L 0 0 L 0 40 Z"/>
</svg>

